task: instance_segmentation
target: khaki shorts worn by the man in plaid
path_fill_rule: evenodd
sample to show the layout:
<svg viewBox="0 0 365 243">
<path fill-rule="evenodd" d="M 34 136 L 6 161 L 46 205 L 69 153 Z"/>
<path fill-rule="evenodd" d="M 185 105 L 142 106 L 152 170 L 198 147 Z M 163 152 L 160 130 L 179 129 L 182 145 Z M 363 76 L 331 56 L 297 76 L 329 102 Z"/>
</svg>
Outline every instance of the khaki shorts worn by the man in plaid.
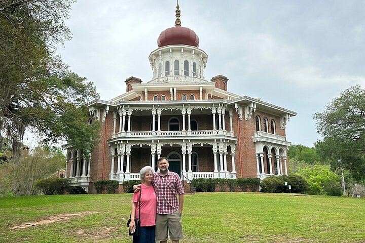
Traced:
<svg viewBox="0 0 365 243">
<path fill-rule="evenodd" d="M 184 238 L 180 211 L 156 215 L 156 241 L 168 240 L 167 233 L 170 234 L 171 240 Z"/>
</svg>

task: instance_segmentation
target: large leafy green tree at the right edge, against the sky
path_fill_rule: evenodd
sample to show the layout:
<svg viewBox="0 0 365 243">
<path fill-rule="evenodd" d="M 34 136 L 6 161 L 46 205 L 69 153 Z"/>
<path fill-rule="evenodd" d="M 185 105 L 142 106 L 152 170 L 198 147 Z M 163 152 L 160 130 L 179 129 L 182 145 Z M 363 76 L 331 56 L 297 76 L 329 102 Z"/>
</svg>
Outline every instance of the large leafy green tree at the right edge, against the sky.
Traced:
<svg viewBox="0 0 365 243">
<path fill-rule="evenodd" d="M 335 169 L 349 170 L 355 180 L 365 179 L 365 90 L 359 85 L 343 91 L 313 115 L 323 141 L 315 148 Z"/>
</svg>

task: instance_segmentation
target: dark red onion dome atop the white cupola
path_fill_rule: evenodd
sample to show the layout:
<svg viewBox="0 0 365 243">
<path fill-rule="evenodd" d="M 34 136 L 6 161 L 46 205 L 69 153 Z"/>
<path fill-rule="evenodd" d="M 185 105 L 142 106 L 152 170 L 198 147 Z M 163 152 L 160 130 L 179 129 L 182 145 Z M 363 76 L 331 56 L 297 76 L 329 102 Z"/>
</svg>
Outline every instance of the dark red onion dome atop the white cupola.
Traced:
<svg viewBox="0 0 365 243">
<path fill-rule="evenodd" d="M 157 44 L 159 47 L 168 45 L 188 45 L 199 47 L 199 37 L 189 28 L 175 26 L 162 31 L 157 39 Z"/>
</svg>

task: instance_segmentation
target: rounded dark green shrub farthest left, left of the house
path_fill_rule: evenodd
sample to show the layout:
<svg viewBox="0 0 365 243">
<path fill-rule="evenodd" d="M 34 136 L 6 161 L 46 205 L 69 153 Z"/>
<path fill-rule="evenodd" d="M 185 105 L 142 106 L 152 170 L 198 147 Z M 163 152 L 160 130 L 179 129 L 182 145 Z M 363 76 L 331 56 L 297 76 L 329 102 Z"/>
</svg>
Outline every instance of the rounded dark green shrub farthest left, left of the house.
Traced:
<svg viewBox="0 0 365 243">
<path fill-rule="evenodd" d="M 42 191 L 45 195 L 64 194 L 69 188 L 69 179 L 47 178 L 37 180 L 34 188 Z"/>
</svg>

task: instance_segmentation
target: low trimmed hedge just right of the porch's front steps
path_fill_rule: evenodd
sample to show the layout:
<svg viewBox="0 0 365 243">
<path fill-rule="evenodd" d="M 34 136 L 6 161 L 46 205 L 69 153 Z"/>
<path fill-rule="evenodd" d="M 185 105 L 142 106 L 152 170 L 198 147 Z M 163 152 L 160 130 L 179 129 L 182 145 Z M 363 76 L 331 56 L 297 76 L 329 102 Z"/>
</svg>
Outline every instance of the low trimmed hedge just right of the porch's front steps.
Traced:
<svg viewBox="0 0 365 243">
<path fill-rule="evenodd" d="M 259 178 L 238 178 L 238 179 L 194 179 L 191 181 L 191 187 L 196 191 L 214 192 L 218 191 L 236 191 L 240 188 L 242 191 L 258 191 L 260 188 Z"/>
</svg>

